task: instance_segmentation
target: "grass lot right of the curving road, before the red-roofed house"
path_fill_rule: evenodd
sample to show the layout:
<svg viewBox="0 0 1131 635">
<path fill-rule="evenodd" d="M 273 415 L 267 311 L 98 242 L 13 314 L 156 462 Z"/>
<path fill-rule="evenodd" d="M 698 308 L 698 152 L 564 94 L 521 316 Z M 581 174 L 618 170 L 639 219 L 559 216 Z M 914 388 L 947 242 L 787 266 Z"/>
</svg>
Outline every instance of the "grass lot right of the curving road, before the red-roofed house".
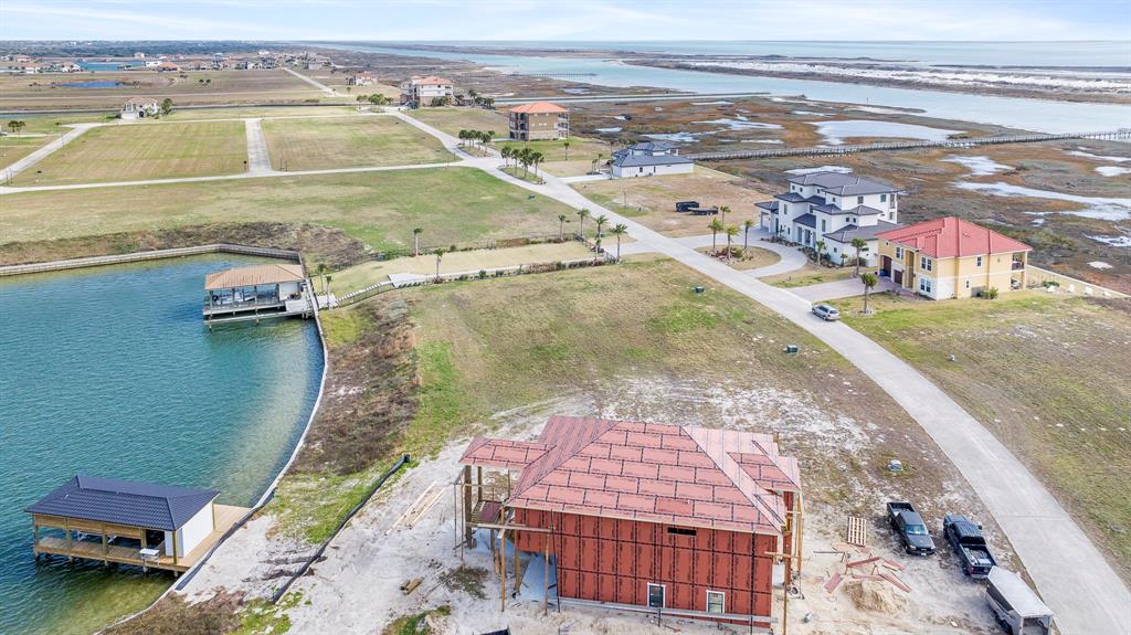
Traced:
<svg viewBox="0 0 1131 635">
<path fill-rule="evenodd" d="M 942 386 L 1048 485 L 1131 579 L 1131 304 L 1051 297 L 835 301 Z M 955 355 L 955 363 L 947 362 Z"/>
</svg>

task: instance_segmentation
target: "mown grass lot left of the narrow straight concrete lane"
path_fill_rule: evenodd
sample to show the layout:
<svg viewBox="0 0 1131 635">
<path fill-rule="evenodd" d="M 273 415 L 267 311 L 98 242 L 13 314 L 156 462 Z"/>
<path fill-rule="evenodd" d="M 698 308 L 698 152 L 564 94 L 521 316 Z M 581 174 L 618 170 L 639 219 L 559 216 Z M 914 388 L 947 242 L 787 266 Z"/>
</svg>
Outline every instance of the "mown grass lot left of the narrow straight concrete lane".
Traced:
<svg viewBox="0 0 1131 635">
<path fill-rule="evenodd" d="M 60 185 L 236 174 L 247 169 L 242 122 L 104 125 L 88 130 L 15 185 Z"/>
</svg>

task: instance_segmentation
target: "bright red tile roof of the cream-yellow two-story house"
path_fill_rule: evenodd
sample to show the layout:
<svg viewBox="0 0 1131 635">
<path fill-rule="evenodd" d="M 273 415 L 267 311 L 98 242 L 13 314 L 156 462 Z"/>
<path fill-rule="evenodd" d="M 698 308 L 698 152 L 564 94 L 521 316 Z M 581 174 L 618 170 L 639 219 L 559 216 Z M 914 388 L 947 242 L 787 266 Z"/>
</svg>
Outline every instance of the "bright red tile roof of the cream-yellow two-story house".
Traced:
<svg viewBox="0 0 1131 635">
<path fill-rule="evenodd" d="M 962 258 L 1029 251 L 1029 245 L 955 216 L 881 232 L 878 238 L 913 249 L 931 258 Z"/>
</svg>

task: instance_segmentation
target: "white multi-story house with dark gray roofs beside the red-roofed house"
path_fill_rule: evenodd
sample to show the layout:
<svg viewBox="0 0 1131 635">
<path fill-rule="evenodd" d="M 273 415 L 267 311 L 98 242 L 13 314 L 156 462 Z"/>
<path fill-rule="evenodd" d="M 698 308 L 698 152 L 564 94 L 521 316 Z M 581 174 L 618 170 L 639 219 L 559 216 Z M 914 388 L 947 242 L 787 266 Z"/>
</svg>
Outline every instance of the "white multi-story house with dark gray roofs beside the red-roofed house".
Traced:
<svg viewBox="0 0 1131 635">
<path fill-rule="evenodd" d="M 900 190 L 879 181 L 817 172 L 789 179 L 789 191 L 772 201 L 757 203 L 761 227 L 771 235 L 818 249 L 834 263 L 855 258 L 853 238 L 863 238 L 867 250 L 860 255 L 871 267 L 877 259 L 877 234 L 901 227 L 898 223 Z"/>
</svg>

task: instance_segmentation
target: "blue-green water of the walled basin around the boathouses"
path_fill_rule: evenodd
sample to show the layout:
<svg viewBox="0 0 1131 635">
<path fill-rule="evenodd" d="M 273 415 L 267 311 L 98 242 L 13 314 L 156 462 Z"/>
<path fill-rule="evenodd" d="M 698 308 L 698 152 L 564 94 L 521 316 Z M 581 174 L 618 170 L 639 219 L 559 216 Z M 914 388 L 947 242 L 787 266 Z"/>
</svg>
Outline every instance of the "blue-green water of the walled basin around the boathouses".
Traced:
<svg viewBox="0 0 1131 635">
<path fill-rule="evenodd" d="M 0 279 L 0 634 L 90 633 L 172 577 L 32 557 L 32 502 L 76 472 L 207 486 L 250 506 L 318 394 L 312 321 L 217 327 L 208 255 Z"/>
</svg>

